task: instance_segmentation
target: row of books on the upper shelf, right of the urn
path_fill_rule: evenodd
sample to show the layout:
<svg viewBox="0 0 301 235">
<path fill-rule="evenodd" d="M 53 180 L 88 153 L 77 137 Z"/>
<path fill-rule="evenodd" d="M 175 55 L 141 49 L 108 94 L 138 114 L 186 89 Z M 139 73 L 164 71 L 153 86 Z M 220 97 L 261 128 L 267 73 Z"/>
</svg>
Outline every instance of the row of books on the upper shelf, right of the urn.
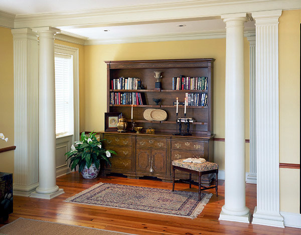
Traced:
<svg viewBox="0 0 301 235">
<path fill-rule="evenodd" d="M 173 77 L 173 90 L 207 90 L 208 77 L 190 77 L 181 75 Z"/>
</svg>

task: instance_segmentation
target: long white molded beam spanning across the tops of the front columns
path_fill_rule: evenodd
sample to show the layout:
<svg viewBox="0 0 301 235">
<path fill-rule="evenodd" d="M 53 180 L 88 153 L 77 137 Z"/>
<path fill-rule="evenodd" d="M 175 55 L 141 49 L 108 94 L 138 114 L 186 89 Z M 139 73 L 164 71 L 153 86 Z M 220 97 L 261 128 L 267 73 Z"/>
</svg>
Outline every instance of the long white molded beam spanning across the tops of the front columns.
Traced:
<svg viewBox="0 0 301 235">
<path fill-rule="evenodd" d="M 228 13 L 301 8 L 300 0 L 186 0 L 101 9 L 16 15 L 15 27 L 124 23 L 192 19 Z"/>
</svg>

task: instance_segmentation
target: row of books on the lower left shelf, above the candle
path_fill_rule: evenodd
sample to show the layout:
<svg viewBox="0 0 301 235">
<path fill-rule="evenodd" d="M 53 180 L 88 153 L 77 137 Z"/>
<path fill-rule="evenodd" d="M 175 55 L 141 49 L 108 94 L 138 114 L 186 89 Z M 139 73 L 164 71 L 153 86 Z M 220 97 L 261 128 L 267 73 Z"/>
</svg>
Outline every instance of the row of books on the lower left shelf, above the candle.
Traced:
<svg viewBox="0 0 301 235">
<path fill-rule="evenodd" d="M 110 104 L 146 104 L 144 93 L 139 92 L 110 92 Z"/>
</svg>

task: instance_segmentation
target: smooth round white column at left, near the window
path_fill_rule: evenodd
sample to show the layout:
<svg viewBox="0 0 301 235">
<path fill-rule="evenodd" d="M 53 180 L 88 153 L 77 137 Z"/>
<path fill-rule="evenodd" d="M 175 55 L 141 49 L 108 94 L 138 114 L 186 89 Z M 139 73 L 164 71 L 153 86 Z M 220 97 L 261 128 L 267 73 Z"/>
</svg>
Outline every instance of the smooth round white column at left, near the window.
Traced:
<svg viewBox="0 0 301 235">
<path fill-rule="evenodd" d="M 64 193 L 56 185 L 54 35 L 59 29 L 39 32 L 39 186 L 31 197 L 51 199 Z"/>
</svg>

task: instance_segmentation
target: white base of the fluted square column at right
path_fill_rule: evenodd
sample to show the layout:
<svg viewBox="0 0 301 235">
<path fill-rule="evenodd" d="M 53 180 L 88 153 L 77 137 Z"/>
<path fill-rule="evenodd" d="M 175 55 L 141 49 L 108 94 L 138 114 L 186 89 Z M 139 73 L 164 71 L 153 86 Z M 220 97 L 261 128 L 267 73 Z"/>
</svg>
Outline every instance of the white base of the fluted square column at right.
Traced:
<svg viewBox="0 0 301 235">
<path fill-rule="evenodd" d="M 280 215 L 257 212 L 257 206 L 254 208 L 252 224 L 260 224 L 273 227 L 284 227 L 283 217 Z"/>
</svg>

